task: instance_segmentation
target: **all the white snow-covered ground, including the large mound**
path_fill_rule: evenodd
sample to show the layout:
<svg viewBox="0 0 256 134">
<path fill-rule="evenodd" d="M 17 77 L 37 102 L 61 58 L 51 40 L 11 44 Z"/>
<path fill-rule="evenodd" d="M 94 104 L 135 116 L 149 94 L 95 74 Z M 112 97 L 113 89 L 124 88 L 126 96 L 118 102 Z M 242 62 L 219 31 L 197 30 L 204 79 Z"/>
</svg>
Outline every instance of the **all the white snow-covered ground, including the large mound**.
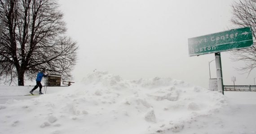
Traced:
<svg viewBox="0 0 256 134">
<path fill-rule="evenodd" d="M 108 72 L 24 96 L 31 88 L 0 86 L 0 134 L 256 134 L 256 92 L 223 96 L 183 80 Z"/>
</svg>

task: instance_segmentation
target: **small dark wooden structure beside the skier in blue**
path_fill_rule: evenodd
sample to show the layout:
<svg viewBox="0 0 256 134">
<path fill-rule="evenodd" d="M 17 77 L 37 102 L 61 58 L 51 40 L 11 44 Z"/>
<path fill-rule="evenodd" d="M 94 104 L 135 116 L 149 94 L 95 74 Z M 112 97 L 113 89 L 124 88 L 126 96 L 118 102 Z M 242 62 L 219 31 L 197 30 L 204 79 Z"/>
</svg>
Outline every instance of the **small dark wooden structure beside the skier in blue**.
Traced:
<svg viewBox="0 0 256 134">
<path fill-rule="evenodd" d="M 49 74 L 46 77 L 46 85 L 49 87 L 61 86 L 62 75 Z"/>
</svg>

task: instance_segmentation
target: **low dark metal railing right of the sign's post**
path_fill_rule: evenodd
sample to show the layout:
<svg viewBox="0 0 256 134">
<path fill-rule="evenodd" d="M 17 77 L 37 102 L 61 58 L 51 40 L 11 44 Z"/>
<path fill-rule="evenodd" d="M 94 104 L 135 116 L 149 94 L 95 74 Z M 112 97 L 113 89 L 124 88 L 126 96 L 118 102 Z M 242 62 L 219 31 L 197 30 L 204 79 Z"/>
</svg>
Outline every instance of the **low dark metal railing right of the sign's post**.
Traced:
<svg viewBox="0 0 256 134">
<path fill-rule="evenodd" d="M 245 92 L 256 92 L 256 86 L 252 85 L 239 85 L 239 86 L 231 86 L 231 85 L 224 85 L 224 91 L 245 91 Z"/>
</svg>

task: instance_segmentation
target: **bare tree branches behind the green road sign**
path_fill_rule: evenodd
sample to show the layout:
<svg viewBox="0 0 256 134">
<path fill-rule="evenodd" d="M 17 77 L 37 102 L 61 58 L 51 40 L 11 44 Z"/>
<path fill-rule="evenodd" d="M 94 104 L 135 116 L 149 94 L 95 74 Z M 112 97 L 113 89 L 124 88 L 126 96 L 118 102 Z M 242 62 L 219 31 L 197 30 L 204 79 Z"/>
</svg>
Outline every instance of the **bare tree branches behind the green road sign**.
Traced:
<svg viewBox="0 0 256 134">
<path fill-rule="evenodd" d="M 245 62 L 245 65 L 237 70 L 249 75 L 256 67 L 256 0 L 239 0 L 239 2 L 234 2 L 232 8 L 234 17 L 231 22 L 238 27 L 252 28 L 253 47 L 231 52 L 231 59 Z"/>
</svg>

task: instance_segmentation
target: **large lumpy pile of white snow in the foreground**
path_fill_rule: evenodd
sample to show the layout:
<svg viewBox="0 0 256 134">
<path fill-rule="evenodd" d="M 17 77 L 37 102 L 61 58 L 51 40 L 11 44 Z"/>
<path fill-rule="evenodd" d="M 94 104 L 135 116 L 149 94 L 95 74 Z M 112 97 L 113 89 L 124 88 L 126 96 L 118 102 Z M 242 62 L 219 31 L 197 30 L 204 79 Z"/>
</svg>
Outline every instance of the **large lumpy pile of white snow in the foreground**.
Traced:
<svg viewBox="0 0 256 134">
<path fill-rule="evenodd" d="M 225 105 L 221 93 L 182 80 L 128 81 L 95 72 L 62 92 L 1 104 L 0 130 L 6 134 L 169 134 L 182 132 L 197 117 L 210 116 Z"/>
</svg>

